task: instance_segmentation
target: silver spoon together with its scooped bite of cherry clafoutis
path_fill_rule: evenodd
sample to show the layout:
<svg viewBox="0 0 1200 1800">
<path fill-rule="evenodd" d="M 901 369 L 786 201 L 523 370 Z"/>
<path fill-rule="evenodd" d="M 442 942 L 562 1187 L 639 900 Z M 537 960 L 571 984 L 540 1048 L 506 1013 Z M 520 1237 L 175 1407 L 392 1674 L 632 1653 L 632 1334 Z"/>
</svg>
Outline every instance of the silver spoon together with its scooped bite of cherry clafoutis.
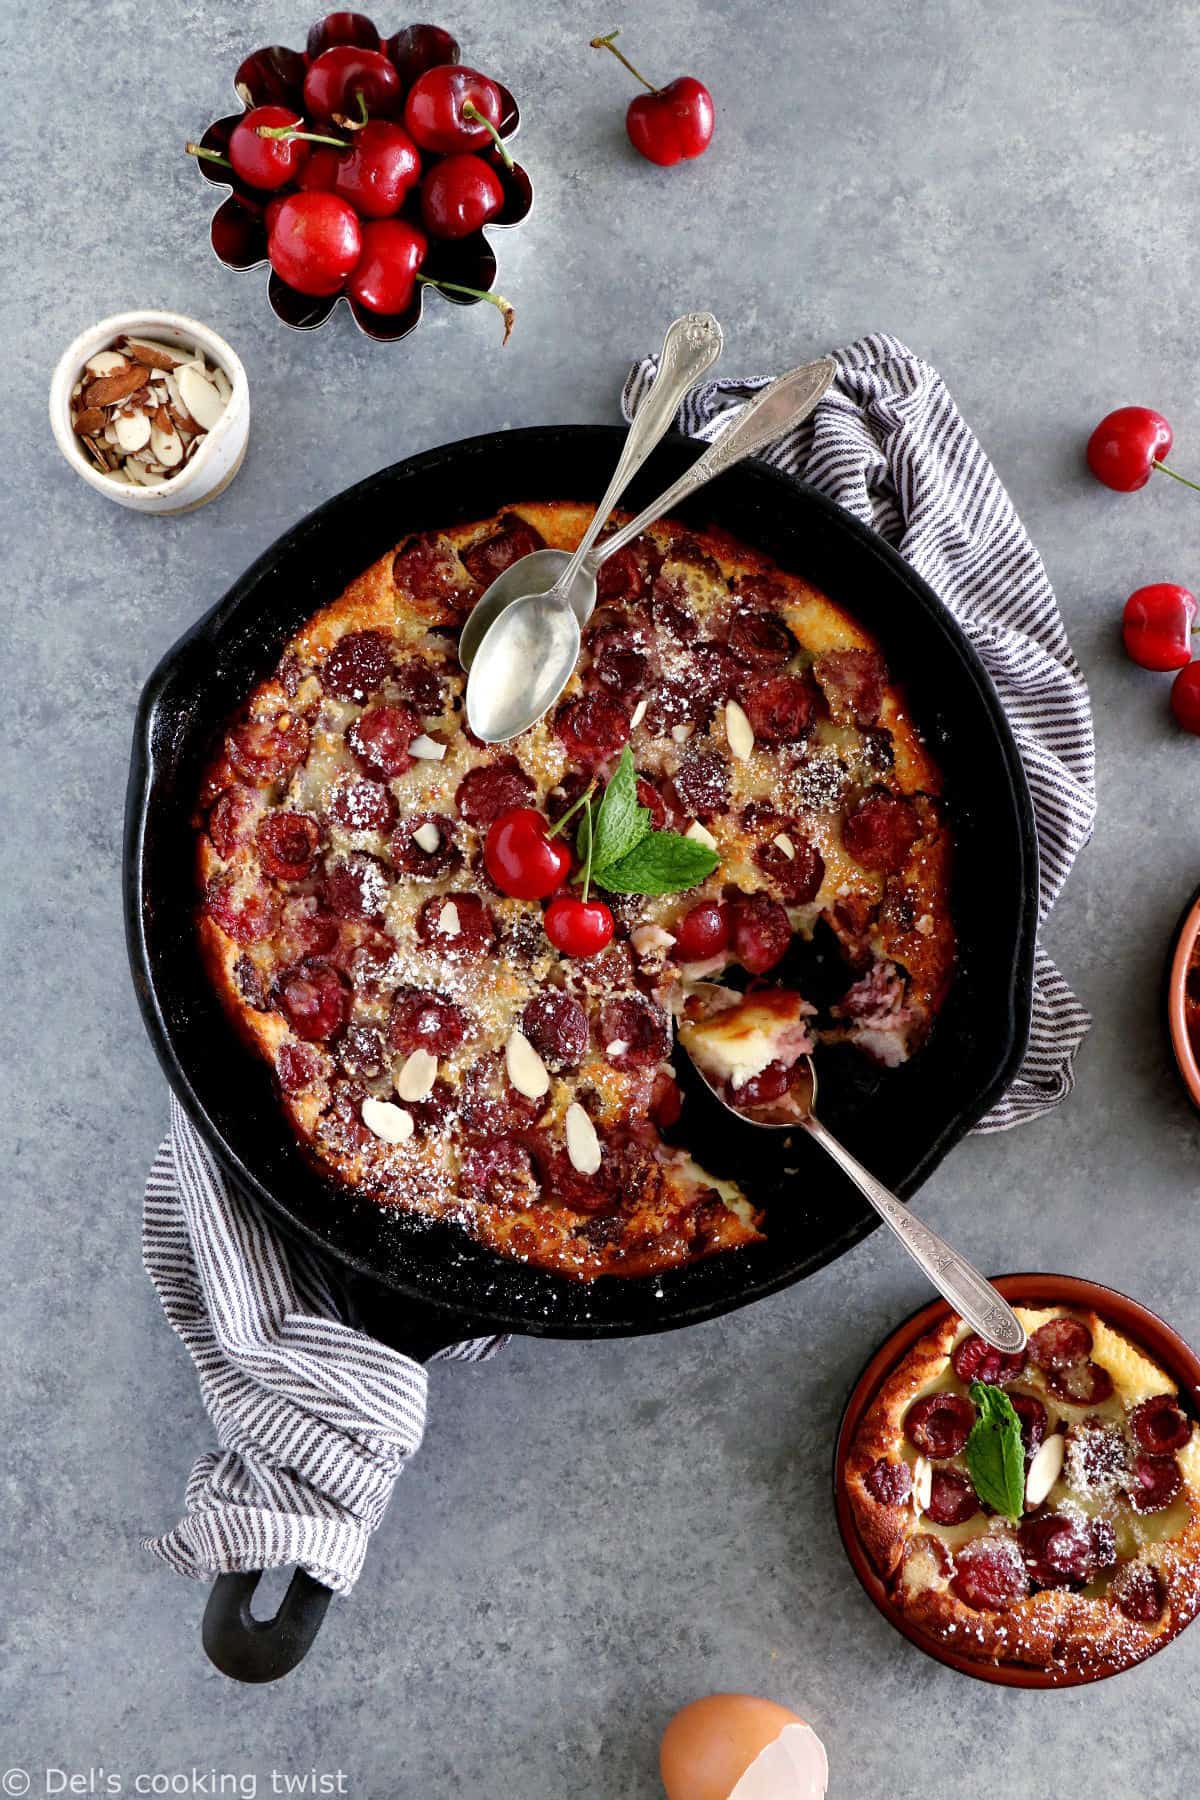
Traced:
<svg viewBox="0 0 1200 1800">
<path fill-rule="evenodd" d="M 684 1004 L 678 1042 L 727 1112 L 766 1130 L 808 1132 L 959 1318 L 997 1350 L 1024 1350 L 1024 1327 L 991 1282 L 901 1206 L 817 1118 L 811 1013 L 808 1001 L 786 988 L 734 994 L 716 983 L 698 983 Z"/>
</svg>

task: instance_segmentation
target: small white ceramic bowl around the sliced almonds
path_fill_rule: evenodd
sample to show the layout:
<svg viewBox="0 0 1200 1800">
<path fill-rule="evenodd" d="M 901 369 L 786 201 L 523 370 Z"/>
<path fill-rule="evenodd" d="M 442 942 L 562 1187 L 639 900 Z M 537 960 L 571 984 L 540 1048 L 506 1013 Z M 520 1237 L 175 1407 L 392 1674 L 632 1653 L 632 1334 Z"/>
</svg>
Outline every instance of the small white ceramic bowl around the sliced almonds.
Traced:
<svg viewBox="0 0 1200 1800">
<path fill-rule="evenodd" d="M 117 481 L 99 470 L 76 437 L 70 419 L 70 391 L 79 380 L 79 371 L 88 356 L 106 349 L 122 331 L 130 337 L 158 338 L 160 344 L 178 349 L 201 349 L 225 371 L 232 389 L 225 412 L 182 473 L 148 488 L 133 488 L 128 481 Z M 194 506 L 214 500 L 241 468 L 250 436 L 250 383 L 241 358 L 223 337 L 201 326 L 198 319 L 189 319 L 185 313 L 115 313 L 81 331 L 59 356 L 50 378 L 50 427 L 56 445 L 76 473 L 117 506 L 130 506 L 135 513 L 189 513 Z"/>
</svg>

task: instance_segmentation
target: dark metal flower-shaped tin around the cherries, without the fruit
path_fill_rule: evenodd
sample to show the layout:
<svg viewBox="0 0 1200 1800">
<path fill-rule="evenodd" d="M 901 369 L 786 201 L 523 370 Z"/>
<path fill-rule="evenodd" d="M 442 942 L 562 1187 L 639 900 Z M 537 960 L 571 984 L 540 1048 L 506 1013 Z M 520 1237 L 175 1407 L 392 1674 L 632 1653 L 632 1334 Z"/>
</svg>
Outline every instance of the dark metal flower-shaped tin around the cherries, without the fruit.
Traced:
<svg viewBox="0 0 1200 1800">
<path fill-rule="evenodd" d="M 401 36 L 380 38 L 376 27 L 371 20 L 362 14 L 335 14 L 335 18 L 353 18 L 356 22 L 354 40 L 369 49 L 380 49 L 392 61 L 398 61 L 396 43 Z M 254 106 L 291 106 L 295 112 L 304 112 L 304 74 L 308 65 L 322 54 L 322 50 L 331 49 L 335 43 L 345 43 L 345 36 L 333 36 L 326 31 L 327 22 L 315 25 L 308 36 L 308 50 L 288 50 L 284 45 L 268 45 L 264 50 L 254 50 L 246 56 L 234 77 L 234 92 L 241 101 L 243 112 L 230 113 L 225 119 L 214 119 L 209 130 L 200 139 L 201 149 L 216 149 L 221 155 L 228 151 L 228 140 L 232 137 L 234 126 L 250 112 Z M 453 40 L 448 40 L 453 45 Z M 446 56 L 444 61 L 457 61 L 457 45 L 453 45 L 453 56 Z M 493 77 L 495 79 L 495 77 Z M 500 115 L 500 137 L 511 139 L 520 128 L 520 112 L 516 101 L 509 90 L 497 81 L 502 101 Z M 498 155 L 495 146 L 488 151 L 475 151 L 475 155 L 489 160 L 500 185 L 504 187 L 504 205 L 495 218 L 488 220 L 488 229 L 473 232 L 470 238 L 459 238 L 455 241 L 444 238 L 430 238 L 430 248 L 425 263 L 421 265 L 421 274 L 430 275 L 434 281 L 453 281 L 466 288 L 479 288 L 488 292 L 497 279 L 497 257 L 488 241 L 488 232 L 493 227 L 511 227 L 520 225 L 529 214 L 533 205 L 533 184 L 525 171 L 515 164 L 511 169 L 506 167 L 504 158 Z M 266 263 L 266 223 L 264 212 L 272 200 L 277 198 L 275 193 L 263 193 L 243 182 L 232 169 L 221 164 L 196 160 L 196 167 L 205 182 L 212 187 L 228 189 L 228 198 L 212 214 L 210 239 L 212 248 L 227 268 L 261 268 Z M 288 193 L 288 189 L 284 189 Z M 401 209 L 401 218 L 410 218 L 414 223 L 421 223 L 417 193 L 408 196 L 405 207 Z M 272 311 L 286 326 L 293 326 L 297 331 L 313 331 L 317 326 L 324 326 L 329 313 L 340 302 L 345 302 L 354 315 L 354 324 L 365 337 L 376 338 L 381 344 L 392 344 L 398 338 L 408 337 L 410 331 L 421 322 L 423 299 L 428 293 L 428 286 L 417 284 L 412 295 L 412 304 L 403 313 L 383 315 L 372 313 L 365 306 L 360 306 L 347 293 L 327 293 L 311 295 L 300 293 L 297 288 L 288 286 L 272 270 L 266 297 L 272 302 Z M 443 292 L 443 290 L 439 290 Z M 468 293 L 446 293 L 443 299 L 455 306 L 477 306 L 475 295 Z"/>
</svg>

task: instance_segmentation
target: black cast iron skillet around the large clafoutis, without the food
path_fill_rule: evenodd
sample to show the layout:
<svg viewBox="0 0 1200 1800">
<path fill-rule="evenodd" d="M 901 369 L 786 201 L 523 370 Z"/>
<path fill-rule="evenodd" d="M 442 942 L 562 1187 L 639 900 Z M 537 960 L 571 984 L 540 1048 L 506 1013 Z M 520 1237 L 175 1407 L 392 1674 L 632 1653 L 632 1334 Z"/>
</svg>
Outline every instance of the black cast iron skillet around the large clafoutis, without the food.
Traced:
<svg viewBox="0 0 1200 1800">
<path fill-rule="evenodd" d="M 448 1224 L 385 1213 L 320 1177 L 207 986 L 194 947 L 191 810 L 221 722 L 273 668 L 290 634 L 408 531 L 486 518 L 522 499 L 599 499 L 619 427 L 497 432 L 410 457 L 327 500 L 288 531 L 164 657 L 137 713 L 126 817 L 126 929 L 146 1026 L 171 1087 L 232 1181 L 288 1231 L 331 1253 L 376 1336 L 416 1355 L 516 1330 L 612 1337 L 714 1318 L 824 1267 L 874 1229 L 844 1177 L 802 1141 L 779 1145 L 694 1094 L 689 1141 L 766 1208 L 763 1246 L 646 1280 L 578 1283 L 506 1262 Z M 667 437 L 630 493 L 642 506 L 696 455 Z M 1024 770 L 997 695 L 959 626 L 874 533 L 765 464 L 721 475 L 680 517 L 720 524 L 808 576 L 878 634 L 946 781 L 957 841 L 959 961 L 943 1015 L 909 1066 L 880 1073 L 849 1051 L 822 1060 L 822 1118 L 910 1195 L 1015 1076 L 1029 1031 L 1036 837 Z M 802 979 L 835 958 L 817 943 Z M 844 983 L 844 976 L 842 976 Z M 689 1121 L 691 1114 L 691 1121 Z M 293 1667 L 327 1604 L 302 1573 L 270 1625 L 252 1620 L 255 1575 L 221 1577 L 205 1645 L 239 1679 Z"/>
</svg>

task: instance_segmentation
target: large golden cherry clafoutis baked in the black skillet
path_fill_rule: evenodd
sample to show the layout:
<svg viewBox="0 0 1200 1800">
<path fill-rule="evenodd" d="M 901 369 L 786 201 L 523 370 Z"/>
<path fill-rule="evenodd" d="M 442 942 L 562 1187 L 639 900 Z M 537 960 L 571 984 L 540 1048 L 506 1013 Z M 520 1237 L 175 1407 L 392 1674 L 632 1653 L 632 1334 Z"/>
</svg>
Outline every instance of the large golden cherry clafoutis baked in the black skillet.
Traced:
<svg viewBox="0 0 1200 1800">
<path fill-rule="evenodd" d="M 698 981 L 779 983 L 820 927 L 846 990 L 813 1031 L 896 1064 L 954 963 L 941 783 L 901 689 L 844 610 L 718 531 L 664 522 L 612 558 L 554 713 L 500 747 L 470 736 L 466 612 L 588 517 L 516 506 L 381 556 L 228 722 L 196 814 L 207 967 L 308 1152 L 581 1278 L 761 1235 L 678 1116 L 673 1019 Z M 711 873 L 610 886 L 612 941 L 569 956 L 540 900 L 495 886 L 489 832 L 617 779 Z M 759 1085 L 783 1080 L 757 1051 Z"/>
</svg>

